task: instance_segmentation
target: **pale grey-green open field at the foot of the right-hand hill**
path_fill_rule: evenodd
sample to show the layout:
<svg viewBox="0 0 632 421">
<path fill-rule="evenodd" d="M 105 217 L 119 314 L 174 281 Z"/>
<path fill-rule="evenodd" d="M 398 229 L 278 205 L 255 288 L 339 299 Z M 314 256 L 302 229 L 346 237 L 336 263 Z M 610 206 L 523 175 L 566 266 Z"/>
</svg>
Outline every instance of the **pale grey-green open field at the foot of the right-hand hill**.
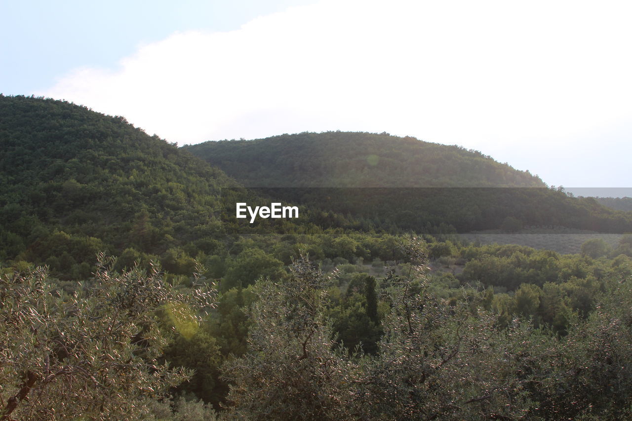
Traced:
<svg viewBox="0 0 632 421">
<path fill-rule="evenodd" d="M 612 247 L 617 247 L 621 234 L 597 233 L 566 227 L 525 228 L 516 233 L 502 233 L 499 229 L 473 231 L 461 234 L 463 238 L 480 244 L 519 244 L 533 248 L 545 248 L 562 254 L 581 252 L 581 245 L 593 238 L 602 238 Z"/>
</svg>

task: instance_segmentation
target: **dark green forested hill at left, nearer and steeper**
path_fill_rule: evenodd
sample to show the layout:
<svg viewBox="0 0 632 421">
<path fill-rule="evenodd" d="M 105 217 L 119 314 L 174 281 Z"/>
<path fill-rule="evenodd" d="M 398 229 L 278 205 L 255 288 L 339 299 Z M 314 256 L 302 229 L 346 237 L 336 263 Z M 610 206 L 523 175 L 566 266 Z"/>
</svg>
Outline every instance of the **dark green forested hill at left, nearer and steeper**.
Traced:
<svg viewBox="0 0 632 421">
<path fill-rule="evenodd" d="M 0 95 L 0 142 L 0 261 L 60 273 L 89 275 L 80 263 L 97 251 L 162 255 L 218 233 L 220 187 L 236 185 L 122 117 L 63 101 Z"/>
</svg>

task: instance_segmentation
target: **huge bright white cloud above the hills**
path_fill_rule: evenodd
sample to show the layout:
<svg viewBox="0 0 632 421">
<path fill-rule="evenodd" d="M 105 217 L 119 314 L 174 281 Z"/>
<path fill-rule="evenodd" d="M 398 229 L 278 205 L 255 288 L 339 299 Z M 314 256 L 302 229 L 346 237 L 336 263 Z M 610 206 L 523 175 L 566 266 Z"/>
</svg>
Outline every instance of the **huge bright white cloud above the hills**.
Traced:
<svg viewBox="0 0 632 421">
<path fill-rule="evenodd" d="M 629 11 L 626 2 L 327 0 L 233 32 L 173 34 L 41 94 L 180 144 L 362 130 L 485 153 L 562 145 L 630 121 Z"/>
</svg>

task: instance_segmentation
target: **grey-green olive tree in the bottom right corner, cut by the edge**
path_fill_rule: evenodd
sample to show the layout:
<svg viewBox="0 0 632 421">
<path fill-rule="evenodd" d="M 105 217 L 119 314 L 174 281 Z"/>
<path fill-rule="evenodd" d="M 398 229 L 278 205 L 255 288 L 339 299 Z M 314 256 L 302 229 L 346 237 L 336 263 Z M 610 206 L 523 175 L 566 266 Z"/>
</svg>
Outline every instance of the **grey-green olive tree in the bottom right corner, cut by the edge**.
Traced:
<svg viewBox="0 0 632 421">
<path fill-rule="evenodd" d="M 568 335 L 538 352 L 538 381 L 527 385 L 535 419 L 632 419 L 632 278 L 610 279 L 599 305 L 574 319 Z M 537 350 L 532 346 L 532 352 Z"/>
</svg>

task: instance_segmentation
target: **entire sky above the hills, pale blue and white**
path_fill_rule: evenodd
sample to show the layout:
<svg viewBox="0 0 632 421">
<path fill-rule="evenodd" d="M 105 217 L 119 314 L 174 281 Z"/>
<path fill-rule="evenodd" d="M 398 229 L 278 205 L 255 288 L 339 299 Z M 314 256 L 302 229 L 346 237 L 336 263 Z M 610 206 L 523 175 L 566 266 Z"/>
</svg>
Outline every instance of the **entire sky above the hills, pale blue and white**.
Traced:
<svg viewBox="0 0 632 421">
<path fill-rule="evenodd" d="M 548 185 L 632 187 L 628 1 L 0 0 L 0 15 L 1 93 L 179 145 L 386 131 Z"/>
</svg>

